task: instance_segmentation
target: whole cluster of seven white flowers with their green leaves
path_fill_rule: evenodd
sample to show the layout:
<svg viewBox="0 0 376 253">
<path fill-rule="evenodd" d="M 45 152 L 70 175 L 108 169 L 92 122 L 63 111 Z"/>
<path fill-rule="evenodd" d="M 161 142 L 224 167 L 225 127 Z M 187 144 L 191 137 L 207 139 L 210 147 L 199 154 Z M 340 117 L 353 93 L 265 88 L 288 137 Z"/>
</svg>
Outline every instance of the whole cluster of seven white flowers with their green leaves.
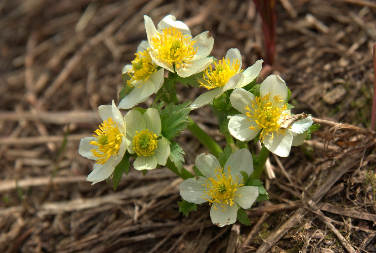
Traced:
<svg viewBox="0 0 376 253">
<path fill-rule="evenodd" d="M 214 39 L 208 31 L 193 37 L 188 26 L 173 15 L 167 15 L 157 27 L 148 16 L 144 21 L 147 41 L 141 41 L 135 58 L 123 67 L 119 104 L 101 105 L 103 123 L 92 137 L 80 142 L 79 154 L 96 161 L 87 181 L 96 184 L 112 177 L 116 189 L 132 160 L 133 167 L 144 174 L 167 166 L 185 179 L 180 184 L 183 202 L 179 203 L 185 215 L 196 204 L 208 202 L 215 225 L 232 224 L 237 218 L 248 224 L 244 209 L 267 200 L 268 194 L 261 181 L 252 177 L 255 159 L 245 143 L 259 140 L 263 148 L 287 157 L 291 146 L 302 144 L 317 129 L 312 128 L 311 116 L 291 114 L 291 93 L 280 76 L 271 75 L 256 84 L 261 59 L 244 70 L 240 51 L 232 48 L 223 58 L 213 60 L 209 54 Z M 208 91 L 193 102 L 180 103 L 179 83 Z M 153 93 L 149 108 L 136 107 Z M 218 119 L 226 119 L 221 132 L 230 133 L 243 148 L 227 145 L 222 150 L 189 118 L 191 110 L 208 104 L 219 111 Z M 123 116 L 119 109 L 129 110 Z M 213 153 L 197 156 L 196 177 L 183 168 L 185 153 L 173 140 L 187 127 Z"/>
</svg>

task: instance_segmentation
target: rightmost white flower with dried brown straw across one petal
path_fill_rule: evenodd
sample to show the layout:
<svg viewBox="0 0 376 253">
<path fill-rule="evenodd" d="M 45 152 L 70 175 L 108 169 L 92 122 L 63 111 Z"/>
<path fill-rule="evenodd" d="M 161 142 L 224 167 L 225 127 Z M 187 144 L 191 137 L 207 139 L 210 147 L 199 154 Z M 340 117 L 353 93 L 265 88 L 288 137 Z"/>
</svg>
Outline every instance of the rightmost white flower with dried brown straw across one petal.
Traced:
<svg viewBox="0 0 376 253">
<path fill-rule="evenodd" d="M 293 122 L 286 129 L 281 128 L 282 122 L 291 115 L 286 98 L 286 83 L 278 75 L 265 78 L 260 85 L 260 97 L 244 89 L 235 89 L 230 101 L 241 114 L 230 118 L 230 134 L 241 141 L 252 140 L 260 134 L 260 141 L 269 151 L 287 157 L 291 145 L 303 142 L 302 137 L 313 121 L 309 116 Z M 294 137 L 296 141 L 293 141 Z"/>
</svg>

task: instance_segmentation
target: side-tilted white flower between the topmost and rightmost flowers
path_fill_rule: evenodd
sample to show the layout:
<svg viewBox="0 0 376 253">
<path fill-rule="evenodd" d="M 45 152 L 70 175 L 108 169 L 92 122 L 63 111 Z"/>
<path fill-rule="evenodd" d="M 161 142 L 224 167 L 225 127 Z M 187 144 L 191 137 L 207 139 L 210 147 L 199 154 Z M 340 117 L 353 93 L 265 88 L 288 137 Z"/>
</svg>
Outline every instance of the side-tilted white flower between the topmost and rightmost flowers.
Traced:
<svg viewBox="0 0 376 253">
<path fill-rule="evenodd" d="M 261 71 L 263 60 L 258 60 L 245 71 L 241 69 L 241 55 L 238 49 L 231 48 L 222 60 L 214 62 L 214 69 L 210 65 L 203 73 L 201 86 L 209 91 L 201 94 L 190 105 L 191 110 L 203 107 L 223 94 L 226 90 L 241 88 L 252 82 Z"/>
</svg>

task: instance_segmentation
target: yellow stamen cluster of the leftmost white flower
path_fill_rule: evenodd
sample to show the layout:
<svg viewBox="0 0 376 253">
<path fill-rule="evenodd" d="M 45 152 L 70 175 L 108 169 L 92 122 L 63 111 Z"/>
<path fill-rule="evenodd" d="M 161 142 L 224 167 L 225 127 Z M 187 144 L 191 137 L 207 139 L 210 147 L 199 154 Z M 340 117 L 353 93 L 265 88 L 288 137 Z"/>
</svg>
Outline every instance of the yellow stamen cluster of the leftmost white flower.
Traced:
<svg viewBox="0 0 376 253">
<path fill-rule="evenodd" d="M 98 146 L 97 149 L 91 149 L 93 157 L 98 157 L 96 161 L 98 163 L 104 164 L 108 161 L 111 155 L 117 155 L 119 153 L 121 140 L 123 134 L 117 124 L 112 121 L 112 118 L 104 120 L 102 124 L 99 125 L 99 129 L 94 131 L 97 135 L 93 134 L 97 138 L 97 141 L 91 141 L 91 145 Z"/>
</svg>

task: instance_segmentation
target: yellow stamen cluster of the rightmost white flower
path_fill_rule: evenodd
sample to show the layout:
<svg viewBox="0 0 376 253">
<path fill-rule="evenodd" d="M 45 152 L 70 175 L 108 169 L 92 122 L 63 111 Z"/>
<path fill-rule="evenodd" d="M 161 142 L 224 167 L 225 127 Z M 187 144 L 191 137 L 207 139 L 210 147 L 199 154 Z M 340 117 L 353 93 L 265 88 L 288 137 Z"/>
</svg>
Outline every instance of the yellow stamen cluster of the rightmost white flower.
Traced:
<svg viewBox="0 0 376 253">
<path fill-rule="evenodd" d="M 248 117 L 255 120 L 258 125 L 256 129 L 253 126 L 249 128 L 252 130 L 260 130 L 260 141 L 263 142 L 265 136 L 271 134 L 271 140 L 274 138 L 274 134 L 285 133 L 280 124 L 286 117 L 287 113 L 284 111 L 287 109 L 287 104 L 284 104 L 282 107 L 281 102 L 284 102 L 280 96 L 274 96 L 270 101 L 270 93 L 265 95 L 263 98 L 256 96 L 256 99 L 252 101 L 252 109 L 247 107 L 245 108 L 249 112 L 246 113 Z"/>
</svg>

